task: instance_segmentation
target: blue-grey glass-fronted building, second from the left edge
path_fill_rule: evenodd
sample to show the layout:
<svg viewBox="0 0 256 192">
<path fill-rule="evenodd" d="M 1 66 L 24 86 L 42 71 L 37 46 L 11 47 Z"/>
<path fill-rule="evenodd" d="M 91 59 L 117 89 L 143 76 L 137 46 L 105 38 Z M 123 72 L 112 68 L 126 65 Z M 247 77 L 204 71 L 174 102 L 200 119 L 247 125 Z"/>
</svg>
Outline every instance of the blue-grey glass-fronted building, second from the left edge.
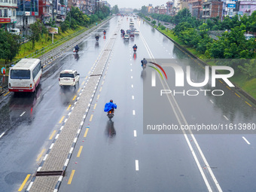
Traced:
<svg viewBox="0 0 256 192">
<path fill-rule="evenodd" d="M 17 0 L 17 28 L 27 35 L 28 26 L 35 23 L 38 16 L 38 0 Z M 26 33 L 25 33 L 26 32 Z"/>
</svg>

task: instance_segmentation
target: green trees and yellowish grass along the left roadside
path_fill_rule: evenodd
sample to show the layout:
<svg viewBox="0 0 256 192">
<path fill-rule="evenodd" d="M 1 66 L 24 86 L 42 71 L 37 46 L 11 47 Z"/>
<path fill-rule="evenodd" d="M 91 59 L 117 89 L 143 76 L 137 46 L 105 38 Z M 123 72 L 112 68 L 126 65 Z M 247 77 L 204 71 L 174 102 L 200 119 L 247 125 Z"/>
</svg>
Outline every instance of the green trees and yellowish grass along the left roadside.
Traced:
<svg viewBox="0 0 256 192">
<path fill-rule="evenodd" d="M 69 11 L 66 20 L 56 25 L 54 21 L 50 21 L 47 25 L 58 28 L 58 34 L 54 35 L 54 41 L 59 41 L 66 36 L 72 35 L 75 32 L 88 29 L 90 26 L 95 26 L 103 19 L 108 17 L 110 10 L 106 6 L 99 8 L 99 11 L 93 15 L 83 14 L 78 8 L 73 8 Z M 30 53 L 34 53 L 41 48 L 52 44 L 51 34 L 48 29 L 37 20 L 29 26 L 31 35 L 29 35 L 26 43 L 23 43 L 19 35 L 12 35 L 0 29 L 0 68 L 8 62 L 23 58 Z"/>
</svg>

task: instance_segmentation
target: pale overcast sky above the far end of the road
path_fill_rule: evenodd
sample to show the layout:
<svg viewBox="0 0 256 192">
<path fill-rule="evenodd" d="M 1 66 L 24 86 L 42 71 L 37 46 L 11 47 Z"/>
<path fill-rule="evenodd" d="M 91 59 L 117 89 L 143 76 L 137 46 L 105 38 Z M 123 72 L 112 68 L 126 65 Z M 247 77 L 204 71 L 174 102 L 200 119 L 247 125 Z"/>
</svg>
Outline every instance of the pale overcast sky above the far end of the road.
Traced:
<svg viewBox="0 0 256 192">
<path fill-rule="evenodd" d="M 142 8 L 143 5 L 148 6 L 148 4 L 157 5 L 166 5 L 168 0 L 107 0 L 108 3 L 113 8 L 114 5 L 117 5 L 118 8 Z"/>
</svg>

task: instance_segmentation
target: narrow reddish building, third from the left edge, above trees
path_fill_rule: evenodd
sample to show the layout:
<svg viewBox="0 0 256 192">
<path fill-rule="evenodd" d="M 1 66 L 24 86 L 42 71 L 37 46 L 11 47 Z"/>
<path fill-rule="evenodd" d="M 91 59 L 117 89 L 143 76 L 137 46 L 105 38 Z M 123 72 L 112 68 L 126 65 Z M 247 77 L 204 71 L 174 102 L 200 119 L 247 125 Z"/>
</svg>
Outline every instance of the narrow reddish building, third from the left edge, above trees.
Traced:
<svg viewBox="0 0 256 192">
<path fill-rule="evenodd" d="M 39 0 L 38 19 L 48 23 L 53 17 L 53 0 Z"/>
</svg>

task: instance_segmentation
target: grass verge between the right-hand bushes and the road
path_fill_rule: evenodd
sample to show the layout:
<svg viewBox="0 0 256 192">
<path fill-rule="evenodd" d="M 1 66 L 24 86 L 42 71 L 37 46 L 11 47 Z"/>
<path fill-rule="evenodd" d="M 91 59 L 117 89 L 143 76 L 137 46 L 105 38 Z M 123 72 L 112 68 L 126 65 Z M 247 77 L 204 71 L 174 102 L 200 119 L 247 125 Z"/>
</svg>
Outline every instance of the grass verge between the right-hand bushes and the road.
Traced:
<svg viewBox="0 0 256 192">
<path fill-rule="evenodd" d="M 190 53 L 193 53 L 195 56 L 199 57 L 200 59 L 205 58 L 205 56 L 201 53 L 199 53 L 197 50 L 195 50 L 192 47 L 187 47 L 180 39 L 178 39 L 177 36 L 173 34 L 172 31 L 166 29 L 161 30 L 158 28 L 160 32 L 163 32 L 165 35 L 169 36 L 169 38 L 172 38 L 173 41 L 178 43 L 181 47 L 186 48 L 190 51 Z M 214 66 L 214 62 L 207 62 L 209 66 Z M 250 96 L 252 96 L 254 99 L 256 99 L 256 78 L 248 79 L 248 77 L 244 74 L 242 74 L 239 71 L 235 71 L 235 75 L 233 75 L 232 78 L 230 78 L 230 81 L 232 81 L 234 84 L 236 84 L 238 87 L 240 87 L 242 90 L 244 90 L 246 93 L 248 93 Z"/>
</svg>

